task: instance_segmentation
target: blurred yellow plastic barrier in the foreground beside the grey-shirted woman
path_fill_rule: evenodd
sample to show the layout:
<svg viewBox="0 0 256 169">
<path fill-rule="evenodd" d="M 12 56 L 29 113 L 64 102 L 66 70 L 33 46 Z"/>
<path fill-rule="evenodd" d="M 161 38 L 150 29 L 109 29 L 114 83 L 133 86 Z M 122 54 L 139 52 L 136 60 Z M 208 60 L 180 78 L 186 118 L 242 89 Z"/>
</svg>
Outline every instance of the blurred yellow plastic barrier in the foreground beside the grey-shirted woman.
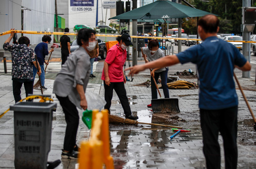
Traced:
<svg viewBox="0 0 256 169">
<path fill-rule="evenodd" d="M 79 169 L 114 169 L 109 146 L 109 112 L 93 110 L 92 128 L 89 141 L 81 143 Z"/>
</svg>

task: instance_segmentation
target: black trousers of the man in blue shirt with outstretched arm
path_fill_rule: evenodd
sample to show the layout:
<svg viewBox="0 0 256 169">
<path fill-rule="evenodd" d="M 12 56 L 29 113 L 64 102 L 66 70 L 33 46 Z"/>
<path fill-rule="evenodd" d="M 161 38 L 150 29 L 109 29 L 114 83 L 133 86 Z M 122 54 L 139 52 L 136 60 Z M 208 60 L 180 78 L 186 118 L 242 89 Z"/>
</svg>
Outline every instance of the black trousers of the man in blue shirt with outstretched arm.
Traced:
<svg viewBox="0 0 256 169">
<path fill-rule="evenodd" d="M 237 106 L 221 110 L 200 109 L 203 154 L 207 169 L 220 169 L 218 132 L 223 138 L 225 168 L 237 168 Z"/>
</svg>

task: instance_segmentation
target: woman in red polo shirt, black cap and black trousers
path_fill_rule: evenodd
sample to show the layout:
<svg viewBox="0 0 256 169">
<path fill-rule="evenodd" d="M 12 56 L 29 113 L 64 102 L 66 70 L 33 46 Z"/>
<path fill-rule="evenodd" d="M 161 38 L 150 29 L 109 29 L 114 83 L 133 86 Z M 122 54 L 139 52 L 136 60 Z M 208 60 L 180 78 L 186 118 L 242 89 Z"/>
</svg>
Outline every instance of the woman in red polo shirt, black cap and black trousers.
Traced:
<svg viewBox="0 0 256 169">
<path fill-rule="evenodd" d="M 113 89 L 116 91 L 120 103 L 124 109 L 125 118 L 136 120 L 138 117 L 132 115 L 132 111 L 126 96 L 124 83 L 126 78 L 123 72 L 124 63 L 126 60 L 126 49 L 132 45 L 131 37 L 128 34 L 123 34 L 117 37 L 118 43 L 112 46 L 106 56 L 104 68 L 102 71 L 102 80 L 104 81 L 105 89 L 105 109 L 109 110 L 113 97 Z"/>
</svg>

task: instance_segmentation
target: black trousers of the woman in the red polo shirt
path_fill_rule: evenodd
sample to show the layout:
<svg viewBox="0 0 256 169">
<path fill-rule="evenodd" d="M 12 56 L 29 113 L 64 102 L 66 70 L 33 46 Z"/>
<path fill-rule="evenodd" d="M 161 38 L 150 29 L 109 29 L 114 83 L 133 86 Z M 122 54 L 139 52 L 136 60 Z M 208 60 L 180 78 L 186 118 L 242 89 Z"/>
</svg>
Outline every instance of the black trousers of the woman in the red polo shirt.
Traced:
<svg viewBox="0 0 256 169">
<path fill-rule="evenodd" d="M 104 107 L 105 109 L 109 110 L 110 112 L 111 100 L 113 97 L 113 89 L 114 89 L 124 109 L 125 117 L 132 115 L 128 98 L 126 96 L 126 90 L 124 88 L 124 82 L 111 82 L 108 86 L 105 84 L 105 81 L 104 81 L 104 89 L 105 89 L 105 101 L 107 102 Z"/>
</svg>

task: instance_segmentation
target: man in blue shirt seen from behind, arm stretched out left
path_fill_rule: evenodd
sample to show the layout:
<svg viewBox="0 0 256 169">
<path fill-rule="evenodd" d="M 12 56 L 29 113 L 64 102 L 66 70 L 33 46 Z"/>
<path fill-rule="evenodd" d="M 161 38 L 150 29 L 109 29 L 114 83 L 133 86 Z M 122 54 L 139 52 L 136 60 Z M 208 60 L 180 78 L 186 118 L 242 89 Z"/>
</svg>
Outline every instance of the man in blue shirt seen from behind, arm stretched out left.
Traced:
<svg viewBox="0 0 256 169">
<path fill-rule="evenodd" d="M 192 62 L 197 65 L 199 78 L 199 108 L 203 132 L 203 153 L 207 169 L 220 169 L 221 156 L 218 132 L 223 138 L 225 168 L 237 168 L 237 93 L 233 70 L 251 70 L 251 64 L 232 44 L 217 38 L 219 20 L 205 15 L 198 22 L 198 33 L 203 40 L 177 55 L 170 55 L 133 66 L 127 70 L 136 74 L 148 68 L 157 68 Z"/>
</svg>

